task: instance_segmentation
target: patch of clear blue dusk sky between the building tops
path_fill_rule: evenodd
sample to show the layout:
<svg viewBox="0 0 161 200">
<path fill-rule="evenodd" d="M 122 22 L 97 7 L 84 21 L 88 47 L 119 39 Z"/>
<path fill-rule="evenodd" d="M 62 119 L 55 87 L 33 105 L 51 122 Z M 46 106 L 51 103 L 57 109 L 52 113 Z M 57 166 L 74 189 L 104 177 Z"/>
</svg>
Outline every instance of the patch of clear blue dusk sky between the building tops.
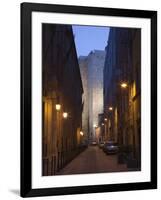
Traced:
<svg viewBox="0 0 161 200">
<path fill-rule="evenodd" d="M 104 50 L 107 45 L 109 28 L 101 26 L 73 25 L 77 55 L 87 56 L 92 50 Z"/>
</svg>

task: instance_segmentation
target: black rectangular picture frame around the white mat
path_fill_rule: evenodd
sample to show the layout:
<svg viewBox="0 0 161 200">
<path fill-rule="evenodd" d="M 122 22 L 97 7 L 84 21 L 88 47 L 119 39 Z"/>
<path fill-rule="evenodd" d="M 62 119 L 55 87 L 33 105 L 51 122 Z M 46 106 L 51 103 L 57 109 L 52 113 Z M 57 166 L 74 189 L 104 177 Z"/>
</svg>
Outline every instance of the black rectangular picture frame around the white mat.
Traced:
<svg viewBox="0 0 161 200">
<path fill-rule="evenodd" d="M 32 37 L 31 15 L 37 12 L 75 13 L 101 16 L 147 18 L 151 21 L 151 181 L 92 186 L 32 189 Z M 115 8 L 66 6 L 37 3 L 21 4 L 21 196 L 47 196 L 99 193 L 157 188 L 157 12 Z"/>
</svg>

